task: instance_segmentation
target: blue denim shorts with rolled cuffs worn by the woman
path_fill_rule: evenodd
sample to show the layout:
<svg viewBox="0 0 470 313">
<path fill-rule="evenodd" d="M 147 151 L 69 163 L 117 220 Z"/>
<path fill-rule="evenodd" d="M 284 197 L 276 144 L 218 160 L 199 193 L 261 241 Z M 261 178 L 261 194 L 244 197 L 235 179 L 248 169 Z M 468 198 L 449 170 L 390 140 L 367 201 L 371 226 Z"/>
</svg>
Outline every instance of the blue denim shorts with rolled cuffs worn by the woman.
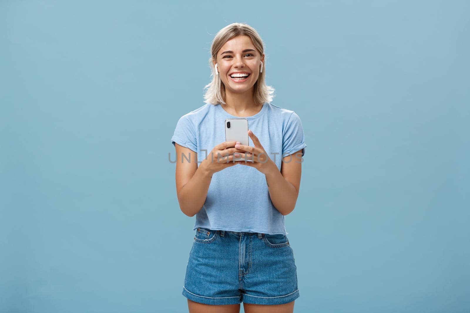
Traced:
<svg viewBox="0 0 470 313">
<path fill-rule="evenodd" d="M 286 235 L 198 228 L 183 296 L 209 305 L 278 305 L 299 297 Z"/>
</svg>

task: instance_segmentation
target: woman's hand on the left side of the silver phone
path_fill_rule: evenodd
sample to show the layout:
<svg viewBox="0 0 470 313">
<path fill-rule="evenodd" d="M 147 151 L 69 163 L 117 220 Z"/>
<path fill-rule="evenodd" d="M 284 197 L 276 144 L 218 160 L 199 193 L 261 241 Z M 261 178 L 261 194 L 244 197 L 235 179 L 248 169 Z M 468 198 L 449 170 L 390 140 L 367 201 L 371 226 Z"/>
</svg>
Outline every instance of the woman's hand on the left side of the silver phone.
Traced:
<svg viewBox="0 0 470 313">
<path fill-rule="evenodd" d="M 202 166 L 205 168 L 205 170 L 207 170 L 212 176 L 212 174 L 217 173 L 224 168 L 237 165 L 238 163 L 233 160 L 233 153 L 244 152 L 241 149 L 233 148 L 237 142 L 238 141 L 224 141 L 223 143 L 216 145 L 212 151 L 208 153 L 207 158 L 201 162 L 199 167 Z"/>
</svg>

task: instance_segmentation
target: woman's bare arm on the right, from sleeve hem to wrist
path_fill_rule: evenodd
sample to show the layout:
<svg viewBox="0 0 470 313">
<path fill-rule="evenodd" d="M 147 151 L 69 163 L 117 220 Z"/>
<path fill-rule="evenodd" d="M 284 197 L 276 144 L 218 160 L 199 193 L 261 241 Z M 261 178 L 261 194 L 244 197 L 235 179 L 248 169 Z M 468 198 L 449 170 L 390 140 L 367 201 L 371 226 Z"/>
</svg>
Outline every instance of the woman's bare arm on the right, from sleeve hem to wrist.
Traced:
<svg viewBox="0 0 470 313">
<path fill-rule="evenodd" d="M 281 171 L 270 171 L 266 174 L 269 196 L 274 207 L 287 215 L 294 210 L 300 188 L 302 174 L 302 150 L 282 159 Z"/>
</svg>

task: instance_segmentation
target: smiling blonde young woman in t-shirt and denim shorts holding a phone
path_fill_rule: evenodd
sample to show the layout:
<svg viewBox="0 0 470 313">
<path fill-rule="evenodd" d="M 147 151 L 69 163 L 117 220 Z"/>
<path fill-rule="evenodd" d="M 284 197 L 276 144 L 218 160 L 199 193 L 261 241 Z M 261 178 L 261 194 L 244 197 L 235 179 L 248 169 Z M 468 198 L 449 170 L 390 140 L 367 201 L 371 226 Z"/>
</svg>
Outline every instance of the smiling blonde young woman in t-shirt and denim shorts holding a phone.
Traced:
<svg viewBox="0 0 470 313">
<path fill-rule="evenodd" d="M 196 215 L 182 293 L 190 313 L 238 313 L 241 302 L 246 313 L 293 312 L 297 267 L 284 216 L 300 186 L 300 118 L 270 102 L 263 42 L 251 26 L 220 30 L 209 61 L 206 104 L 183 115 L 172 137 L 180 208 Z M 248 120 L 249 145 L 225 141 L 227 118 Z"/>
</svg>

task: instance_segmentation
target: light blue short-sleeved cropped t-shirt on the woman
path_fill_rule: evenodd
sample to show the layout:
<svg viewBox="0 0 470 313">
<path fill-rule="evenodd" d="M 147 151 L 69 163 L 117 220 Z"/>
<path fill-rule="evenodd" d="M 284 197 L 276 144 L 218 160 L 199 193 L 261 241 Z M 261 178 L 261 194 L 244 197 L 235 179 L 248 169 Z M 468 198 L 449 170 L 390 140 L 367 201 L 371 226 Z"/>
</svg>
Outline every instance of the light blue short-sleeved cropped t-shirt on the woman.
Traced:
<svg viewBox="0 0 470 313">
<path fill-rule="evenodd" d="M 230 115 L 223 105 L 205 104 L 181 116 L 172 137 L 172 144 L 188 147 L 197 153 L 197 166 L 211 151 L 225 141 L 225 120 L 240 118 Z M 291 110 L 265 102 L 257 114 L 244 117 L 248 129 L 258 137 L 269 158 L 281 170 L 282 156 L 302 149 L 305 136 L 298 115 Z M 249 138 L 249 145 L 254 146 Z M 204 149 L 206 151 L 204 151 Z M 277 154 L 276 154 L 277 153 Z M 216 160 L 217 156 L 214 156 Z M 292 155 L 292 162 L 295 162 Z M 298 161 L 298 160 L 297 160 Z M 183 159 L 183 162 L 188 160 Z M 237 164 L 212 175 L 204 206 L 196 214 L 198 227 L 265 234 L 287 234 L 282 215 L 271 202 L 266 176 L 256 168 Z"/>
</svg>

